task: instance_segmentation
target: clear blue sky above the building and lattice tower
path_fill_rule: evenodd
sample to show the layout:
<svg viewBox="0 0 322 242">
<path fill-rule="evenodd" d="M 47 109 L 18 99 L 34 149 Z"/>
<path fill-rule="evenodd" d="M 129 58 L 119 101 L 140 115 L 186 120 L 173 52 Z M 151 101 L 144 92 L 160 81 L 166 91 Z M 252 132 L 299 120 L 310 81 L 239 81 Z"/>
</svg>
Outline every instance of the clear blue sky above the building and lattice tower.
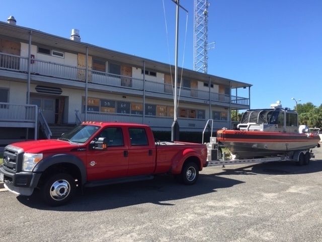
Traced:
<svg viewBox="0 0 322 242">
<path fill-rule="evenodd" d="M 215 41 L 208 51 L 209 74 L 252 84 L 251 108 L 277 100 L 293 108 L 292 97 L 298 103 L 322 103 L 321 0 L 209 3 L 208 43 Z M 180 4 L 189 13 L 180 11 L 178 64 L 192 70 L 194 1 Z M 66 38 L 78 29 L 82 42 L 175 63 L 176 5 L 171 0 L 17 0 L 3 4 L 0 13 L 3 22 L 12 15 L 17 25 Z M 237 95 L 248 97 L 248 92 Z"/>
</svg>

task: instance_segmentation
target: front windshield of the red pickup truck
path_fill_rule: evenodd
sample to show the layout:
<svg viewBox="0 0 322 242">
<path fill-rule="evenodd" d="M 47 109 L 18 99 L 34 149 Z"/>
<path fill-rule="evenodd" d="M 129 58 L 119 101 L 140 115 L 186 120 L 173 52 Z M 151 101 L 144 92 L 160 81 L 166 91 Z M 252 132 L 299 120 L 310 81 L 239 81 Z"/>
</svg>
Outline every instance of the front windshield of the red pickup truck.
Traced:
<svg viewBox="0 0 322 242">
<path fill-rule="evenodd" d="M 79 125 L 68 133 L 63 134 L 58 140 L 67 140 L 73 143 L 85 143 L 100 127 L 93 125 Z"/>
</svg>

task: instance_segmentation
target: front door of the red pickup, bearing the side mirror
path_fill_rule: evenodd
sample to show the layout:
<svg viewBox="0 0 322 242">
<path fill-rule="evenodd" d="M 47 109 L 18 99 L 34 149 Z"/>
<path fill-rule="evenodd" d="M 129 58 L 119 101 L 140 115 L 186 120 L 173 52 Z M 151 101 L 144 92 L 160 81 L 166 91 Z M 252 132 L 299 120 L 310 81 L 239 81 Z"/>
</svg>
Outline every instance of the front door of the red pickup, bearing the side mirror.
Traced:
<svg viewBox="0 0 322 242">
<path fill-rule="evenodd" d="M 126 176 L 129 161 L 128 144 L 124 140 L 122 127 L 106 128 L 93 141 L 97 141 L 100 137 L 108 139 L 107 149 L 90 148 L 87 155 L 88 180 Z"/>
</svg>

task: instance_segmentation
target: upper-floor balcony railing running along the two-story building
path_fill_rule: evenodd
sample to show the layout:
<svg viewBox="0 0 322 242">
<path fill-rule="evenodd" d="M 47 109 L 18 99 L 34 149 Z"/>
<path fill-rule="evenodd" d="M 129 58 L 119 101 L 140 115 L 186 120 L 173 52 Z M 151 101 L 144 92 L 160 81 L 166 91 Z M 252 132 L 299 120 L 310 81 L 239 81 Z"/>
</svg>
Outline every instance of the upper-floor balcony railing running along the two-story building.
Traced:
<svg viewBox="0 0 322 242">
<path fill-rule="evenodd" d="M 21 57 L 19 55 L 12 55 L 6 53 L 0 53 L 0 69 L 28 72 L 28 58 Z M 86 81 L 86 69 L 78 68 L 73 66 L 61 65 L 52 62 L 42 61 L 40 59 L 31 59 L 30 63 L 31 75 L 47 76 L 58 79 L 68 79 L 74 81 Z M 94 70 L 88 70 L 88 82 L 104 85 L 113 86 L 133 90 L 143 90 L 143 80 L 126 77 L 121 75 L 115 75 L 106 72 L 99 72 Z M 159 93 L 173 95 L 173 85 L 146 81 L 145 82 L 146 93 Z M 200 99 L 209 101 L 209 92 L 202 91 L 193 88 L 182 87 L 180 92 L 181 97 L 188 97 L 193 99 Z M 221 93 L 210 93 L 210 100 L 215 102 L 223 102 L 239 105 L 249 105 L 249 98 L 229 96 Z"/>
</svg>

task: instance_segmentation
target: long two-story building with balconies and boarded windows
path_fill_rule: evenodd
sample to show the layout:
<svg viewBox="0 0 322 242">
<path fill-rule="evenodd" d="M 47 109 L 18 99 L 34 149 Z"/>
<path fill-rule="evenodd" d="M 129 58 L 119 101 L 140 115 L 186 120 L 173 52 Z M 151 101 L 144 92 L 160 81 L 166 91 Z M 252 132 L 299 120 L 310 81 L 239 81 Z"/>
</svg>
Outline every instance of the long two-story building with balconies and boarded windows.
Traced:
<svg viewBox="0 0 322 242">
<path fill-rule="evenodd" d="M 231 127 L 230 110 L 250 107 L 251 84 L 181 69 L 180 131 Z M 48 124 L 130 122 L 170 131 L 175 67 L 0 22 L 0 144 L 50 134 Z M 237 96 L 248 88 L 247 97 Z M 36 128 L 36 129 L 35 129 Z"/>
</svg>

